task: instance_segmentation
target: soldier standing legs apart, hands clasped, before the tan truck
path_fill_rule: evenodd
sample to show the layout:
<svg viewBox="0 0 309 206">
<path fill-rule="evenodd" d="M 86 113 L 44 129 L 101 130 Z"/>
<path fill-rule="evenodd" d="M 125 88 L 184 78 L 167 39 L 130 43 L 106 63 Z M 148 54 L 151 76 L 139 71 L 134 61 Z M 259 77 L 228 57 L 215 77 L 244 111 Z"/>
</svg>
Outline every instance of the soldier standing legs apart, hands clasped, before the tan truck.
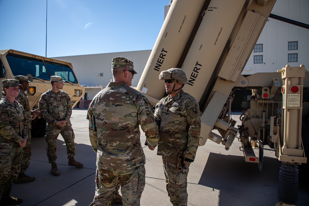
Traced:
<svg viewBox="0 0 309 206">
<path fill-rule="evenodd" d="M 68 165 L 77 168 L 82 168 L 84 165 L 74 159 L 74 132 L 70 121 L 72 115 L 71 98 L 68 93 L 60 90 L 63 88 L 63 82 L 65 81 L 59 76 L 51 76 L 50 82 L 53 87 L 41 96 L 39 100 L 39 109 L 41 116 L 47 122 L 46 150 L 48 162 L 52 164 L 51 173 L 54 176 L 59 176 L 60 172 L 56 164 L 56 141 L 59 133 L 66 143 L 66 152 L 69 159 Z"/>
</svg>

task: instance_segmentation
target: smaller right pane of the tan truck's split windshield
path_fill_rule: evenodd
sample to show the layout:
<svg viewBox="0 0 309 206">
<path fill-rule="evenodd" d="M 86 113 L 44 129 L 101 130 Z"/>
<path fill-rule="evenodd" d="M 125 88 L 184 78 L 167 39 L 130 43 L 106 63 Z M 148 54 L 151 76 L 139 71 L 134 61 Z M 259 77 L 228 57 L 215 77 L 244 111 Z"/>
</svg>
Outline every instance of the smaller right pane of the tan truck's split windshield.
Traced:
<svg viewBox="0 0 309 206">
<path fill-rule="evenodd" d="M 68 82 L 77 84 L 77 79 L 72 68 L 69 65 L 58 64 L 54 62 L 46 62 L 45 65 L 51 76 L 60 76 Z"/>
</svg>

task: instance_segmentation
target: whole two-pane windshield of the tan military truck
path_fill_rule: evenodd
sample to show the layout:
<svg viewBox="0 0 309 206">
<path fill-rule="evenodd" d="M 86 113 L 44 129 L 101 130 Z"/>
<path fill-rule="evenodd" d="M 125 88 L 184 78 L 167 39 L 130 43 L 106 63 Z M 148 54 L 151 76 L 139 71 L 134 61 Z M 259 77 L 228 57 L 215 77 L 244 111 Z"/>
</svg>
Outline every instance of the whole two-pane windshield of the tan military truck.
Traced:
<svg viewBox="0 0 309 206">
<path fill-rule="evenodd" d="M 24 57 L 16 54 L 7 54 L 6 59 L 9 62 L 14 76 L 31 74 L 32 77 L 50 81 L 50 76 L 61 76 L 66 81 L 77 84 L 77 79 L 73 69 L 69 65 L 47 62 L 31 57 Z"/>
</svg>

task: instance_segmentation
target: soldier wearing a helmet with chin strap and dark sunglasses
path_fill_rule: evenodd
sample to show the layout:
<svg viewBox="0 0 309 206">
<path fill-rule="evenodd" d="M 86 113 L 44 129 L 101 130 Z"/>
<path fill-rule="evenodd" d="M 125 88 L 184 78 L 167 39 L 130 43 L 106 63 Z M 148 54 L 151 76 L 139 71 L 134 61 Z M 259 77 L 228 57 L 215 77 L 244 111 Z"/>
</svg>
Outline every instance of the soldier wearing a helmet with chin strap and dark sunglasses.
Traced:
<svg viewBox="0 0 309 206">
<path fill-rule="evenodd" d="M 194 161 L 201 131 L 201 115 L 198 103 L 182 88 L 187 84 L 182 69 L 162 71 L 168 94 L 155 106 L 155 120 L 159 125 L 160 141 L 157 155 L 162 156 L 166 189 L 174 206 L 188 202 L 187 176 Z"/>
</svg>

